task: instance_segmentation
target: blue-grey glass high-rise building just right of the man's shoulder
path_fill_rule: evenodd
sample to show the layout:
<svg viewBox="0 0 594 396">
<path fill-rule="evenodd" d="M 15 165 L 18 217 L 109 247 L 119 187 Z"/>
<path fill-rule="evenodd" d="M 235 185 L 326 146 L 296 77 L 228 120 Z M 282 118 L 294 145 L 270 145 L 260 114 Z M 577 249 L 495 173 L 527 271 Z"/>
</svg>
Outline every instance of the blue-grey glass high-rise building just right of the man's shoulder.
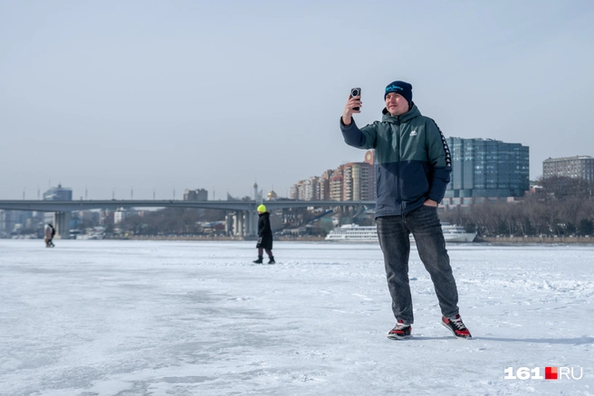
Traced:
<svg viewBox="0 0 594 396">
<path fill-rule="evenodd" d="M 447 137 L 452 156 L 447 204 L 521 197 L 530 188 L 529 147 L 493 139 Z"/>
</svg>

